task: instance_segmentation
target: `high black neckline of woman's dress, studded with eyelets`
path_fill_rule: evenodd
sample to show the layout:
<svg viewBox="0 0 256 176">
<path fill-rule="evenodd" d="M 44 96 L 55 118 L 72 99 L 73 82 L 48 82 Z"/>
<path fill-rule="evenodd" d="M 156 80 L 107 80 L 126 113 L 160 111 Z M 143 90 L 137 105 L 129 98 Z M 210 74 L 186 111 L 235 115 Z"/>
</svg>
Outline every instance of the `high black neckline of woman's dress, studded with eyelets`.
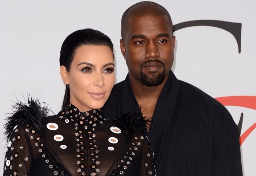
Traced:
<svg viewBox="0 0 256 176">
<path fill-rule="evenodd" d="M 78 128 L 78 126 L 81 128 L 81 126 L 83 126 L 85 129 L 96 127 L 107 120 L 103 116 L 103 109 L 92 109 L 87 112 L 80 112 L 80 110 L 71 103 L 68 103 L 57 116 L 65 123 L 75 126 L 75 128 Z"/>
</svg>

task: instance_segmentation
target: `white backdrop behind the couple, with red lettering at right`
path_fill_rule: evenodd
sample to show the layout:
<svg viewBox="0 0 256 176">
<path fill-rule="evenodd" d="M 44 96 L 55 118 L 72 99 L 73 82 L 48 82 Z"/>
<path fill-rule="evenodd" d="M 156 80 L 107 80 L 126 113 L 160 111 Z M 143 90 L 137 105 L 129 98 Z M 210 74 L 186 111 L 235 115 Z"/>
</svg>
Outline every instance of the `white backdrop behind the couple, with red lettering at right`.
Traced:
<svg viewBox="0 0 256 176">
<path fill-rule="evenodd" d="M 128 69 L 119 48 L 121 16 L 138 0 L 0 0 L 0 124 L 12 112 L 16 98 L 31 94 L 49 104 L 54 113 L 61 107 L 65 85 L 59 74 L 59 52 L 63 40 L 83 28 L 108 35 L 115 47 L 116 82 Z M 241 53 L 229 32 L 196 26 L 178 30 L 174 74 L 212 97 L 253 96 L 251 106 L 226 106 L 238 124 L 244 114 L 241 135 L 244 175 L 256 175 L 256 3 L 253 0 L 155 0 L 170 13 L 173 24 L 191 20 L 222 20 L 242 23 Z M 255 108 L 253 108 L 255 107 Z M 251 128 L 250 128 L 251 127 Z M 247 131 L 246 131 L 247 130 Z M 2 130 L 0 130 L 3 133 Z M 250 133 L 251 132 L 251 133 Z M 0 135 L 0 173 L 4 163 L 4 135 Z"/>
</svg>

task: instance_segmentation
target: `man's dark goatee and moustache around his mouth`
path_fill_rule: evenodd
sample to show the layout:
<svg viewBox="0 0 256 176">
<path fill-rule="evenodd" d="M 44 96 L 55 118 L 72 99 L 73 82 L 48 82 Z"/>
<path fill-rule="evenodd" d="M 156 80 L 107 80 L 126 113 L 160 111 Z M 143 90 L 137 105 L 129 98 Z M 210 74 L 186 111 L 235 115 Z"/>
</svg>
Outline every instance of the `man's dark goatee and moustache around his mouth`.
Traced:
<svg viewBox="0 0 256 176">
<path fill-rule="evenodd" d="M 143 65 L 150 62 L 158 62 L 163 66 L 163 71 L 161 73 L 155 74 L 156 72 L 151 72 L 151 74 L 145 74 L 142 72 Z M 140 65 L 140 81 L 145 86 L 158 86 L 163 83 L 165 79 L 165 64 L 160 60 L 147 60 Z"/>
</svg>

